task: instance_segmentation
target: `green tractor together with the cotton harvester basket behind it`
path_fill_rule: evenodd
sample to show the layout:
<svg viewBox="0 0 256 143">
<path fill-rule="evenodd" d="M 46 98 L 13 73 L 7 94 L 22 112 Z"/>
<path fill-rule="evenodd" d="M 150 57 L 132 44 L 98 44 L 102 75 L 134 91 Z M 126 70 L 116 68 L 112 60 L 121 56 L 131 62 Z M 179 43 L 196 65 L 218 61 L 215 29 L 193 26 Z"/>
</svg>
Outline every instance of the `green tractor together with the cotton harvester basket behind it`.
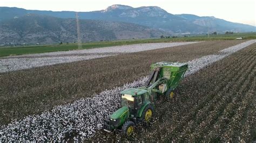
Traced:
<svg viewBox="0 0 256 143">
<path fill-rule="evenodd" d="M 104 119 L 104 131 L 116 130 L 131 135 L 138 123 L 149 122 L 154 113 L 154 102 L 159 96 L 173 98 L 174 89 L 183 79 L 187 68 L 186 63 L 158 62 L 151 65 L 145 87 L 120 92 L 122 108 Z"/>
</svg>

